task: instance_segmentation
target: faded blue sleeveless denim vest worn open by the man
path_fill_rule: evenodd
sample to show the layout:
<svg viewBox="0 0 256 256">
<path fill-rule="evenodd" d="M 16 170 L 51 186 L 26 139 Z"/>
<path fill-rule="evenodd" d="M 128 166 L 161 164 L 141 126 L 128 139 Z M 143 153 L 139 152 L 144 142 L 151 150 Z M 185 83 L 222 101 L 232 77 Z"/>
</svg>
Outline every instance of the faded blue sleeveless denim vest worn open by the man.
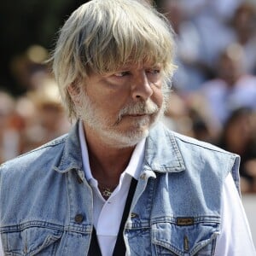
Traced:
<svg viewBox="0 0 256 256">
<path fill-rule="evenodd" d="M 224 178 L 237 189 L 239 157 L 155 125 L 125 224 L 127 255 L 213 255 Z M 92 191 L 78 125 L 0 168 L 5 255 L 87 255 Z"/>
</svg>

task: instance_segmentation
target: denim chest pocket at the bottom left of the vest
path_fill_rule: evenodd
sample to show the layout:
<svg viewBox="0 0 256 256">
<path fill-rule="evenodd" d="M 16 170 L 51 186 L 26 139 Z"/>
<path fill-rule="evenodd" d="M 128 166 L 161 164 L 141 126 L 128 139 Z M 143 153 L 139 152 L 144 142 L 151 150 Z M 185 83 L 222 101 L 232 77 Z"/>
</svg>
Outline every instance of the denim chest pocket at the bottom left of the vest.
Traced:
<svg viewBox="0 0 256 256">
<path fill-rule="evenodd" d="M 3 233 L 4 255 L 55 255 L 62 231 L 42 227 L 29 227 L 21 231 Z"/>
</svg>

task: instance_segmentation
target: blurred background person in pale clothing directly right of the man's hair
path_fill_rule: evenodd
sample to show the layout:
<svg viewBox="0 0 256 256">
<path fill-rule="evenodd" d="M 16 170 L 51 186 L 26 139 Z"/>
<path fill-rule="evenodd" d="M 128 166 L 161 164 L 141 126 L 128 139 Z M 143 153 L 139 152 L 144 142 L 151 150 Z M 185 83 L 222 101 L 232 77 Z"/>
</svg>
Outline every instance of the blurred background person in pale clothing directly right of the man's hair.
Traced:
<svg viewBox="0 0 256 256">
<path fill-rule="evenodd" d="M 172 79 L 172 87 L 180 94 L 193 91 L 208 79 L 211 73 L 201 58 L 203 44 L 195 24 L 188 19 L 182 1 L 161 0 L 158 9 L 171 22 L 177 45 L 175 63 L 178 66 Z"/>
</svg>

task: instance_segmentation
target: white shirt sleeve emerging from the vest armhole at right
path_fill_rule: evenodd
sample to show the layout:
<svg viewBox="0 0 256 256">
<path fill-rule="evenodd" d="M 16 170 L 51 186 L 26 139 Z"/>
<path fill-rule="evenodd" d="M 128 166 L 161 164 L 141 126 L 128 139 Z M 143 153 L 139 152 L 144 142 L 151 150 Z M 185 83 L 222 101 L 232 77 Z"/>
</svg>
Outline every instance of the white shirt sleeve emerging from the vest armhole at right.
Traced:
<svg viewBox="0 0 256 256">
<path fill-rule="evenodd" d="M 247 216 L 231 174 L 226 177 L 224 182 L 221 218 L 215 255 L 255 256 L 256 252 Z"/>
</svg>

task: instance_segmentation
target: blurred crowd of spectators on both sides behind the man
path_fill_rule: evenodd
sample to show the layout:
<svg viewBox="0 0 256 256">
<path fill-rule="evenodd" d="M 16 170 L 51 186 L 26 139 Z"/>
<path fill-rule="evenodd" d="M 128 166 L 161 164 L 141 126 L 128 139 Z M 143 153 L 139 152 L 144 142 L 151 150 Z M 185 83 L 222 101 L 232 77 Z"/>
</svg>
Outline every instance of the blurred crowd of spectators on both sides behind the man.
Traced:
<svg viewBox="0 0 256 256">
<path fill-rule="evenodd" d="M 155 3 L 177 41 L 177 71 L 163 122 L 240 154 L 241 191 L 256 192 L 256 2 Z M 70 129 L 55 80 L 42 64 L 48 57 L 34 45 L 13 61 L 23 95 L 0 87 L 0 163 Z"/>
</svg>

